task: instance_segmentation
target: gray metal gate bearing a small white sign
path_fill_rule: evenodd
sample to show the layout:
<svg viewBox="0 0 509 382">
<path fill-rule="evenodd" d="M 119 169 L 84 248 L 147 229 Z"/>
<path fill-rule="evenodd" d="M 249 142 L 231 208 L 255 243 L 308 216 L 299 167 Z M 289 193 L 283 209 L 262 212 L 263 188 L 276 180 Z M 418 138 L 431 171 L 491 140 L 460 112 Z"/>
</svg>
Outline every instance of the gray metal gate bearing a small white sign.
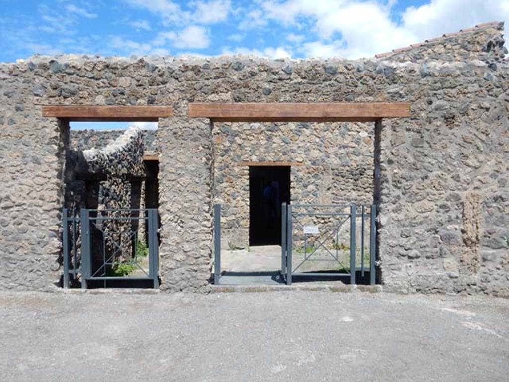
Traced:
<svg viewBox="0 0 509 382">
<path fill-rule="evenodd" d="M 362 277 L 369 272 L 369 283 L 375 284 L 376 204 L 369 210 L 356 204 L 283 203 L 281 275 L 286 283 L 291 284 L 292 277 L 297 276 L 349 277 L 355 284 L 358 272 Z M 340 240 L 345 237 L 349 245 Z M 327 261 L 332 266 L 306 269 L 309 263 Z"/>
</svg>

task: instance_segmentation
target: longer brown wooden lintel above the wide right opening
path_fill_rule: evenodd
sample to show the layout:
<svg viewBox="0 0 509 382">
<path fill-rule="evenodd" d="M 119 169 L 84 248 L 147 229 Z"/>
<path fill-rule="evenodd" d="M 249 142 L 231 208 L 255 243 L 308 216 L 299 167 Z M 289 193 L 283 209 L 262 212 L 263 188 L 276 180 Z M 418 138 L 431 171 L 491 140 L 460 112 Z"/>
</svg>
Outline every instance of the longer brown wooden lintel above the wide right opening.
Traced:
<svg viewBox="0 0 509 382">
<path fill-rule="evenodd" d="M 409 103 L 190 103 L 189 116 L 219 122 L 374 122 L 410 116 Z"/>
</svg>

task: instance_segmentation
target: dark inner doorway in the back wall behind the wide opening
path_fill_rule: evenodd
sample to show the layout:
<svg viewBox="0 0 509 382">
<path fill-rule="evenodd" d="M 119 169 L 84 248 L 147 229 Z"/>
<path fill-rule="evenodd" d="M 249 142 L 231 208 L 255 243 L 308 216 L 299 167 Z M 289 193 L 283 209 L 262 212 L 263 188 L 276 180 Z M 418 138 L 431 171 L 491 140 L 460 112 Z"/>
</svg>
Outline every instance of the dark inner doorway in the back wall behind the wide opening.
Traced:
<svg viewBox="0 0 509 382">
<path fill-rule="evenodd" d="M 281 203 L 290 202 L 289 166 L 249 167 L 249 245 L 281 245 Z"/>
</svg>

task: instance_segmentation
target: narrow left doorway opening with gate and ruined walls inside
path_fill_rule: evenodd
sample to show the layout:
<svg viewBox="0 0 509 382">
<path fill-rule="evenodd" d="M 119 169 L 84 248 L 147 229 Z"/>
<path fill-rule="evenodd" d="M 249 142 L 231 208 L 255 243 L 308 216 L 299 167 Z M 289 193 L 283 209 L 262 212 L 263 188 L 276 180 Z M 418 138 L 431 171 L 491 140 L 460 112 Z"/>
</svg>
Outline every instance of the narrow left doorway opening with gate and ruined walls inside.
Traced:
<svg viewBox="0 0 509 382">
<path fill-rule="evenodd" d="M 158 285 L 156 128 L 157 122 L 66 121 L 64 287 Z"/>
</svg>

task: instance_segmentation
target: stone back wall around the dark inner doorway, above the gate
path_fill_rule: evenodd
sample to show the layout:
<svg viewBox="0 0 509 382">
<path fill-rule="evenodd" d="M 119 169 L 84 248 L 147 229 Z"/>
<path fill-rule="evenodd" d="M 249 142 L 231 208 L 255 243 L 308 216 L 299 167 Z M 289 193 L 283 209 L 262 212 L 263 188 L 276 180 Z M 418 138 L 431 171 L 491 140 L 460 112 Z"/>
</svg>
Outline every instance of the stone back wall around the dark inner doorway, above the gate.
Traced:
<svg viewBox="0 0 509 382">
<path fill-rule="evenodd" d="M 221 240 L 249 243 L 249 167 L 239 162 L 297 162 L 291 168 L 292 203 L 373 202 L 371 124 L 215 124 L 214 202 L 222 204 Z"/>
</svg>

